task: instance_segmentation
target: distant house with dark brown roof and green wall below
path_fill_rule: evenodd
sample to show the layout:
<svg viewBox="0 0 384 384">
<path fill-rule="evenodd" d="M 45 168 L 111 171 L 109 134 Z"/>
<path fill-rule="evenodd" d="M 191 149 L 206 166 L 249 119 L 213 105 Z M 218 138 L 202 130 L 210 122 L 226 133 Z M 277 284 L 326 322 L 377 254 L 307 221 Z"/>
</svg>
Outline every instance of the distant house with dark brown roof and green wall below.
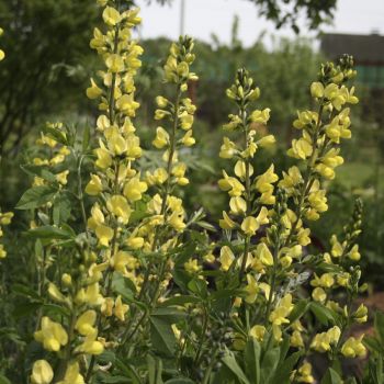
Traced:
<svg viewBox="0 0 384 384">
<path fill-rule="evenodd" d="M 358 81 L 373 91 L 384 90 L 384 36 L 327 33 L 321 36 L 320 49 L 330 59 L 352 55 Z"/>
</svg>

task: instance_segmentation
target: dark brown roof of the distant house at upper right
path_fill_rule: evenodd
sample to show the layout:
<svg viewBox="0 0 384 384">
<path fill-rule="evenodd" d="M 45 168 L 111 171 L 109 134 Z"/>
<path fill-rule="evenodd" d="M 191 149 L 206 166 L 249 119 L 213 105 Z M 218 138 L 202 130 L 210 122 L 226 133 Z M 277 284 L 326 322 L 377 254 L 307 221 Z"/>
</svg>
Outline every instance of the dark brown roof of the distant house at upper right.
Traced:
<svg viewBox="0 0 384 384">
<path fill-rule="evenodd" d="M 357 64 L 384 65 L 384 36 L 327 33 L 321 35 L 321 50 L 335 59 L 352 55 Z"/>
</svg>

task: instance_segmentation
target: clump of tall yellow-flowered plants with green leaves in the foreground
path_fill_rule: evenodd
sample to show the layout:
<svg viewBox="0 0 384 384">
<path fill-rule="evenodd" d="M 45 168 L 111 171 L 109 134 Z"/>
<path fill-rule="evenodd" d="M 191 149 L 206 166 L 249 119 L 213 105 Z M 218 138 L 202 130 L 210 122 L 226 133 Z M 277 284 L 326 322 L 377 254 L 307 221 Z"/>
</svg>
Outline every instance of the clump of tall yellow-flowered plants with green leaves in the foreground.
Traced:
<svg viewBox="0 0 384 384">
<path fill-rule="evenodd" d="M 298 137 L 287 156 L 296 163 L 281 173 L 273 163 L 259 167 L 275 144 L 259 129 L 271 111 L 257 109 L 259 88 L 237 71 L 218 154 L 228 163 L 217 182 L 228 206 L 207 223 L 182 200 L 183 154 L 195 144 L 196 106 L 187 94 L 197 79 L 193 39 L 170 47 L 163 82 L 173 97 L 156 98 L 153 146 L 161 157 L 144 169 L 135 126 L 143 48 L 132 37 L 140 18 L 129 1 L 98 4 L 103 27 L 91 47 L 103 67 L 87 89 L 99 103 L 94 133 L 80 137 L 49 123 L 23 167 L 33 184 L 16 207 L 32 214 L 26 235 L 36 269 L 27 381 L 315 383 L 312 362 L 324 354 L 321 383 L 341 383 L 348 372 L 340 362 L 366 353 L 363 337 L 350 335 L 368 318 L 355 304 L 364 289 L 362 206 L 327 251 L 310 247 L 310 222 L 328 210 L 327 183 L 343 162 L 341 140 L 351 137 L 351 57 L 321 66 L 309 89 L 316 109 L 293 122 Z M 11 217 L 0 214 L 0 224 Z"/>
</svg>

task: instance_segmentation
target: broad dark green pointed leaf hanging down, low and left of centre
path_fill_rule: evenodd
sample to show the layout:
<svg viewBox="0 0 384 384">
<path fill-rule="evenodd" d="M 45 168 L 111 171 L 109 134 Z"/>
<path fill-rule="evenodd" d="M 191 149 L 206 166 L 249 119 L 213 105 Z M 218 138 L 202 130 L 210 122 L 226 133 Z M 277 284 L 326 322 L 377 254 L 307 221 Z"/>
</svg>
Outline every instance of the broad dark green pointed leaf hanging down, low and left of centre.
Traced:
<svg viewBox="0 0 384 384">
<path fill-rule="evenodd" d="M 166 357 L 172 357 L 176 351 L 176 337 L 171 325 L 157 316 L 150 316 L 149 323 L 154 349 Z"/>
</svg>

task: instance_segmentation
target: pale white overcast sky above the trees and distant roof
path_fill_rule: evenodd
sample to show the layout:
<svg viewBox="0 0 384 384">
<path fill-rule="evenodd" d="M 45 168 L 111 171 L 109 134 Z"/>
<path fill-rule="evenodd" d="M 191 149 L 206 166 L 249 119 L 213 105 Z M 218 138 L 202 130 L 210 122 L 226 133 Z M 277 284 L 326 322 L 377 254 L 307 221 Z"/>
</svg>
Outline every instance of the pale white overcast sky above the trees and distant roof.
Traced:
<svg viewBox="0 0 384 384">
<path fill-rule="evenodd" d="M 172 5 L 148 5 L 138 0 L 142 8 L 143 38 L 167 36 L 176 39 L 180 35 L 180 9 L 182 0 L 173 0 Z M 264 42 L 271 44 L 271 35 L 294 37 L 290 27 L 276 31 L 272 22 L 258 16 L 257 7 L 246 0 L 184 0 L 184 33 L 205 42 L 212 41 L 212 33 L 221 42 L 230 41 L 230 27 L 234 16 L 239 16 L 239 38 L 245 46 L 252 45 L 262 32 L 267 32 Z M 316 33 L 305 27 L 305 18 L 297 22 L 301 34 L 315 37 Z M 338 0 L 332 25 L 323 26 L 324 32 L 384 34 L 384 0 Z"/>
</svg>

